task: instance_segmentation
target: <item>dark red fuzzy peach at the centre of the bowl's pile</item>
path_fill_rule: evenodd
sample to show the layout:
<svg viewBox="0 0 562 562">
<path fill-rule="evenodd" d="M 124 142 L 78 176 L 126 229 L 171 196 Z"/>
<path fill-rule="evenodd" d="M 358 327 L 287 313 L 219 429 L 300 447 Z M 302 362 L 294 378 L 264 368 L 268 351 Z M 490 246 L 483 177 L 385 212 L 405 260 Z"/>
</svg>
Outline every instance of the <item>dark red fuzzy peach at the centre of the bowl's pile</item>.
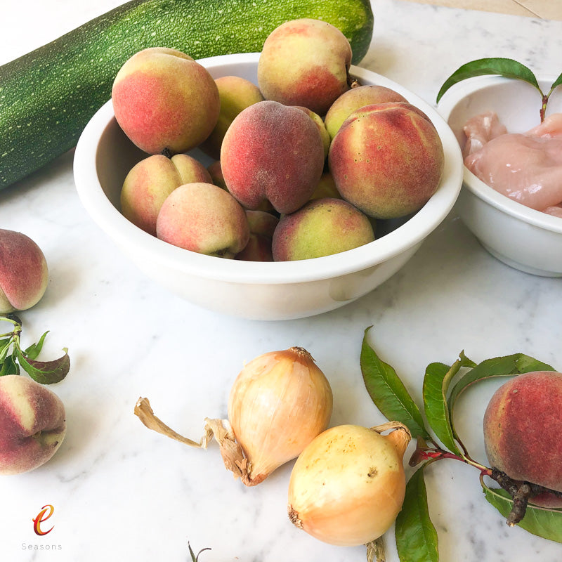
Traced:
<svg viewBox="0 0 562 562">
<path fill-rule="evenodd" d="M 221 167 L 230 193 L 246 209 L 268 201 L 278 213 L 302 207 L 324 169 L 324 148 L 313 120 L 276 101 L 250 105 L 223 140 Z"/>
</svg>

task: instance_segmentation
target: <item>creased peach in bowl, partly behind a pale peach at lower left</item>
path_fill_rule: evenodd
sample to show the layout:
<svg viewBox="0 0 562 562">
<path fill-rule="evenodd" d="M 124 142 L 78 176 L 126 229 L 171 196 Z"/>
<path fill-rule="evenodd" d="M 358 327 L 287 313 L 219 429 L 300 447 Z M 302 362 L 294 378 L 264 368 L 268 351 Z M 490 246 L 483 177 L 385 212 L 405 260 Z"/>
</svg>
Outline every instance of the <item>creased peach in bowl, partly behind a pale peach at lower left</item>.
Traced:
<svg viewBox="0 0 562 562">
<path fill-rule="evenodd" d="M 192 156 L 149 156 L 127 174 L 121 190 L 121 212 L 155 236 L 156 219 L 166 197 L 180 185 L 192 182 L 212 183 L 207 168 Z"/>
</svg>

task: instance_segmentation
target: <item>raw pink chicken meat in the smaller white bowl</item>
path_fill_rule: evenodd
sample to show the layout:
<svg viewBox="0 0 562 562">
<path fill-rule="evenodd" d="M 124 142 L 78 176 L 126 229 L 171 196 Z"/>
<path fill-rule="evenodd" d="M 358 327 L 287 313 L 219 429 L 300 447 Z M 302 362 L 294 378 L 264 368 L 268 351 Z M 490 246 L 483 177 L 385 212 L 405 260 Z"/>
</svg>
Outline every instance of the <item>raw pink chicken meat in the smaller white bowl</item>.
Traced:
<svg viewBox="0 0 562 562">
<path fill-rule="evenodd" d="M 482 126 L 478 126 L 480 119 Z M 466 151 L 464 164 L 483 182 L 527 207 L 544 211 L 562 202 L 562 114 L 544 119 L 527 133 L 499 133 L 497 116 L 473 117 L 465 132 L 467 144 L 482 148 Z"/>
</svg>

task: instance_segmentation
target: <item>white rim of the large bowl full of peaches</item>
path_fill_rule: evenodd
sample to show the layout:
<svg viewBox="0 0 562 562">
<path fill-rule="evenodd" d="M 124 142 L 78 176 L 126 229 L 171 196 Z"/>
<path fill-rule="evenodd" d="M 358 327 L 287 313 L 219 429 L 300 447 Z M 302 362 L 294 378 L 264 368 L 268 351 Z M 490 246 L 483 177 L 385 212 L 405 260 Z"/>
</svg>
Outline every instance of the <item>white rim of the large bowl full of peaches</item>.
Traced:
<svg viewBox="0 0 562 562">
<path fill-rule="evenodd" d="M 198 59 L 209 70 L 222 65 L 257 64 L 260 53 L 237 53 Z M 403 225 L 383 237 L 361 247 L 300 261 L 252 262 L 217 259 L 166 244 L 145 233 L 122 216 L 103 192 L 96 171 L 98 141 L 115 119 L 112 101 L 108 100 L 91 118 L 82 131 L 74 152 L 74 183 L 79 199 L 93 221 L 117 244 L 134 251 L 142 248 L 150 260 L 161 266 L 185 273 L 226 282 L 285 285 L 329 279 L 365 270 L 387 261 L 420 244 L 445 219 L 457 200 L 462 187 L 462 155 L 452 130 L 434 107 L 396 82 L 370 70 L 351 66 L 351 74 L 393 88 L 410 103 L 426 112 L 438 130 L 445 150 L 443 178 L 436 193 Z M 138 244 L 138 246 L 137 246 Z M 186 259 L 188 256 L 188 259 Z"/>
</svg>

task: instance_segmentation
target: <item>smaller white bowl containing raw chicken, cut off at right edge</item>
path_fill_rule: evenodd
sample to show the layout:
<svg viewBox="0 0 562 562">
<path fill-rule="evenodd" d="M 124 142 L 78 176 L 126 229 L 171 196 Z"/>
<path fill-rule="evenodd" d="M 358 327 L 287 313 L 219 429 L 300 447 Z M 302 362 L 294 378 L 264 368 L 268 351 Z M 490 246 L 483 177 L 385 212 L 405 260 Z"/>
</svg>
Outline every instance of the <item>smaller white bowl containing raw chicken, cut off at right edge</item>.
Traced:
<svg viewBox="0 0 562 562">
<path fill-rule="evenodd" d="M 539 80 L 547 93 L 555 77 Z M 541 96 L 518 79 L 483 76 L 447 90 L 438 111 L 464 146 L 463 126 L 474 115 L 492 110 L 509 133 L 523 133 L 540 122 Z M 554 90 L 547 115 L 562 111 L 562 88 Z M 526 273 L 562 276 L 562 218 L 509 199 L 464 167 L 463 188 L 455 205 L 460 218 L 490 254 Z"/>
</svg>

